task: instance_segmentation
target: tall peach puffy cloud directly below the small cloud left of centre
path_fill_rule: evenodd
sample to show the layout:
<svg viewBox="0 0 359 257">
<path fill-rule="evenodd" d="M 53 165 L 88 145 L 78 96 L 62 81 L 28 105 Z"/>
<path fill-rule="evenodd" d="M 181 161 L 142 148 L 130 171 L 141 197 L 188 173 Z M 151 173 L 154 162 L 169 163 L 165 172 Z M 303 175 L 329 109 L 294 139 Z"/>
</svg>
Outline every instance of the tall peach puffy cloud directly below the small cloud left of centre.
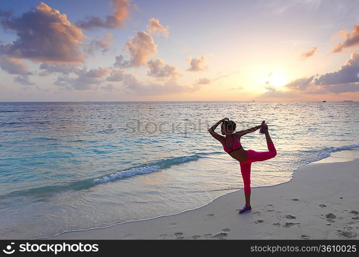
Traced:
<svg viewBox="0 0 359 257">
<path fill-rule="evenodd" d="M 157 45 L 152 36 L 145 31 L 136 32 L 124 46 L 124 50 L 128 50 L 131 59 L 126 61 L 122 55 L 116 57 L 115 67 L 128 68 L 147 65 L 149 59 L 157 54 Z"/>
</svg>

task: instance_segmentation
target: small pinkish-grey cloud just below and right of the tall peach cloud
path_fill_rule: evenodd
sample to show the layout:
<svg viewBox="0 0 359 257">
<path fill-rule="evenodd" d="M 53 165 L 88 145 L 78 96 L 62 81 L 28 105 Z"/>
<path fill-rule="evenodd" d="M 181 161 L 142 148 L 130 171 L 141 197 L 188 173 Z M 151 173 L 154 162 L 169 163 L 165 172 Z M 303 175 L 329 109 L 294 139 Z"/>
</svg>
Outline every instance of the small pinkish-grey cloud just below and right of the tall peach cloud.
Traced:
<svg viewBox="0 0 359 257">
<path fill-rule="evenodd" d="M 147 71 L 148 76 L 155 78 L 172 77 L 174 80 L 180 76 L 180 72 L 177 70 L 176 66 L 165 64 L 162 59 L 150 60 L 147 64 L 149 67 L 149 71 Z"/>
</svg>

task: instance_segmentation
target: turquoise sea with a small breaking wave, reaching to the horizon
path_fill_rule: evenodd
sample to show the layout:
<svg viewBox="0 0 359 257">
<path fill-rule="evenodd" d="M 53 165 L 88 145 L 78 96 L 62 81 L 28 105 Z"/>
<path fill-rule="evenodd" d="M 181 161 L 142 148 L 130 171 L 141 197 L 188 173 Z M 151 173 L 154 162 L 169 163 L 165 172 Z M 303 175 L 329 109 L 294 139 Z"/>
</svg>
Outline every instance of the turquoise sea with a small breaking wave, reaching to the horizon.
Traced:
<svg viewBox="0 0 359 257">
<path fill-rule="evenodd" d="M 179 213 L 241 189 L 238 161 L 207 132 L 224 117 L 269 125 L 278 154 L 252 165 L 252 187 L 289 181 L 357 151 L 358 113 L 358 102 L 0 103 L 0 238 Z M 258 131 L 241 143 L 267 151 Z"/>
</svg>

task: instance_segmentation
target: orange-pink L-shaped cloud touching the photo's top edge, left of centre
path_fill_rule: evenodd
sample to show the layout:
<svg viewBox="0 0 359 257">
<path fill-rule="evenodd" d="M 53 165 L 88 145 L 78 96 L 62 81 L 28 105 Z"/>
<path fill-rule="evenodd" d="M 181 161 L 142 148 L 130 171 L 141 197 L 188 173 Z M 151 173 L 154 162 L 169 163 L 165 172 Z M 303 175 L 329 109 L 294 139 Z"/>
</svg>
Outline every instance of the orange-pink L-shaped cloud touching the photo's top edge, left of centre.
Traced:
<svg viewBox="0 0 359 257">
<path fill-rule="evenodd" d="M 114 7 L 114 13 L 112 15 L 107 15 L 105 20 L 98 16 L 88 15 L 84 21 L 78 21 L 75 24 L 82 29 L 114 29 L 123 27 L 124 20 L 128 20 L 130 9 L 137 8 L 136 5 L 131 5 L 130 2 L 130 0 L 114 0 L 111 2 L 111 6 Z"/>
</svg>

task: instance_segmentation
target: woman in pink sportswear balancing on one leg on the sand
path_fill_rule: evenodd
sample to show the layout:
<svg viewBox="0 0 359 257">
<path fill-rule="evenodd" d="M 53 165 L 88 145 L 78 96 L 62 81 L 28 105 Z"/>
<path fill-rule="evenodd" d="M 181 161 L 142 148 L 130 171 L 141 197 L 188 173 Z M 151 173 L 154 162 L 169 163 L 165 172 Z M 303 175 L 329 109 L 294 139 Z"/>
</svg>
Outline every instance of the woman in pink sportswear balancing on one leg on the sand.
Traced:
<svg viewBox="0 0 359 257">
<path fill-rule="evenodd" d="M 216 127 L 222 123 L 221 131 L 222 135 L 217 134 L 215 132 Z M 240 138 L 248 133 L 254 132 L 258 130 L 258 128 L 264 128 L 264 134 L 267 139 L 268 152 L 256 152 L 253 150 L 244 150 L 241 143 Z M 240 172 L 242 174 L 243 182 L 244 182 L 244 196 L 245 196 L 245 205 L 239 211 L 239 213 L 244 213 L 246 211 L 252 210 L 251 207 L 251 164 L 255 161 L 263 161 L 273 158 L 277 155 L 277 151 L 274 147 L 271 137 L 268 132 L 268 125 L 266 123 L 251 127 L 248 130 L 237 131 L 236 123 L 234 121 L 230 121 L 228 118 L 224 118 L 214 124 L 210 129 L 210 134 L 220 141 L 223 145 L 223 149 L 232 158 L 239 161 Z"/>
</svg>

